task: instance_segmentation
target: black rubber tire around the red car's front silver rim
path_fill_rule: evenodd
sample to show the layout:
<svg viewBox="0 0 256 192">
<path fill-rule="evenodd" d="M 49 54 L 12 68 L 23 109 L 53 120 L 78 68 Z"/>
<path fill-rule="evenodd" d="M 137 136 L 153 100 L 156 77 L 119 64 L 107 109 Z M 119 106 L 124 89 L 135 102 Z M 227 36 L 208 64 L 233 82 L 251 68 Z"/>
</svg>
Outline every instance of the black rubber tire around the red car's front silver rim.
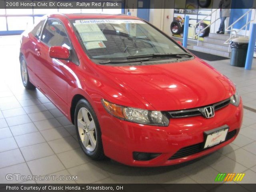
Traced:
<svg viewBox="0 0 256 192">
<path fill-rule="evenodd" d="M 80 135 L 79 135 L 79 130 L 78 130 L 78 112 L 81 108 L 86 108 L 89 112 L 90 115 L 92 116 L 92 120 L 94 120 L 95 123 L 95 128 L 96 128 L 96 147 L 94 149 L 94 151 L 89 151 L 86 149 L 86 147 L 84 146 Z M 82 148 L 82 150 L 84 151 L 84 153 L 90 157 L 93 160 L 102 160 L 105 159 L 106 156 L 104 155 L 104 151 L 103 151 L 103 146 L 102 146 L 102 139 L 101 139 L 101 130 L 100 130 L 100 125 L 98 122 L 98 118 L 92 108 L 92 106 L 90 105 L 90 103 L 85 100 L 85 99 L 81 99 L 78 101 L 78 103 L 76 104 L 76 110 L 75 110 L 75 115 L 74 115 L 75 119 L 75 126 L 76 126 L 76 134 L 77 134 L 77 138 L 78 138 L 78 142 Z"/>
</svg>

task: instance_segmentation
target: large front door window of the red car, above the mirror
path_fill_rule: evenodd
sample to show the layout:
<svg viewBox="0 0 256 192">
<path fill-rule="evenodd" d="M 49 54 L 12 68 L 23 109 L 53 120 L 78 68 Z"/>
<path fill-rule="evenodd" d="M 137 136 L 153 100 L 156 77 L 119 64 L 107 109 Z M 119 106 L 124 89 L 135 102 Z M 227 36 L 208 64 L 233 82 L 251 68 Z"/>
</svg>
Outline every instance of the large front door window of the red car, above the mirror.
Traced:
<svg viewBox="0 0 256 192">
<path fill-rule="evenodd" d="M 41 40 L 49 46 L 63 46 L 70 49 L 70 41 L 65 28 L 57 20 L 47 20 Z"/>
</svg>

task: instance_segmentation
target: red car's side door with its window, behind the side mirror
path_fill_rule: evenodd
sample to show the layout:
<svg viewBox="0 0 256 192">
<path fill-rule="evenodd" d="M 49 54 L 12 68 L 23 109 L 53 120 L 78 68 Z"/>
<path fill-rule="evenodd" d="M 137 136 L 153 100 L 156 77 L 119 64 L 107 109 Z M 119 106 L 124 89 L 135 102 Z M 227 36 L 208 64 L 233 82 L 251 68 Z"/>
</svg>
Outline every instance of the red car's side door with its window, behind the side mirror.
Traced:
<svg viewBox="0 0 256 192">
<path fill-rule="evenodd" d="M 38 78 L 38 88 L 66 114 L 67 108 L 67 60 L 50 58 L 51 46 L 64 46 L 71 50 L 71 42 L 64 25 L 60 20 L 48 19 L 40 41 L 36 44 L 38 64 L 35 74 Z"/>
</svg>

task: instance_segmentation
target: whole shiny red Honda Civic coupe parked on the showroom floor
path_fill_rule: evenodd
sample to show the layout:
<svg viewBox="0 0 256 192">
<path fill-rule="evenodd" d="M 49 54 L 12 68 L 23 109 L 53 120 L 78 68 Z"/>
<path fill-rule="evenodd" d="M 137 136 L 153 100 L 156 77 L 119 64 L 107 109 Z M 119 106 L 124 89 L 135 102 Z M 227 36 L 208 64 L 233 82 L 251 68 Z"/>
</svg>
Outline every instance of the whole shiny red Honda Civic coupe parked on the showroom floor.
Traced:
<svg viewBox="0 0 256 192">
<path fill-rule="evenodd" d="M 178 164 L 232 142 L 236 86 L 144 20 L 52 14 L 21 38 L 22 82 L 75 125 L 94 160 Z"/>
</svg>

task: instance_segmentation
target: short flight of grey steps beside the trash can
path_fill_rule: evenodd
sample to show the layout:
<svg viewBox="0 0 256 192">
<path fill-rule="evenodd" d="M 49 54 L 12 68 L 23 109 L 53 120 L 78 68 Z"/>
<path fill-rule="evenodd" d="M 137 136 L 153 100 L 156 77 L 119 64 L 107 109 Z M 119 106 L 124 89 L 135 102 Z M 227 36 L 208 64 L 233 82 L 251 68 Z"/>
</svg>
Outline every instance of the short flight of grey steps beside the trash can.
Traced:
<svg viewBox="0 0 256 192">
<path fill-rule="evenodd" d="M 223 57 L 230 57 L 228 52 L 228 44 L 224 44 L 230 38 L 229 34 L 213 34 L 210 33 L 208 37 L 204 37 L 204 41 L 199 41 L 198 46 L 194 45 L 195 51 L 210 53 Z"/>
</svg>

